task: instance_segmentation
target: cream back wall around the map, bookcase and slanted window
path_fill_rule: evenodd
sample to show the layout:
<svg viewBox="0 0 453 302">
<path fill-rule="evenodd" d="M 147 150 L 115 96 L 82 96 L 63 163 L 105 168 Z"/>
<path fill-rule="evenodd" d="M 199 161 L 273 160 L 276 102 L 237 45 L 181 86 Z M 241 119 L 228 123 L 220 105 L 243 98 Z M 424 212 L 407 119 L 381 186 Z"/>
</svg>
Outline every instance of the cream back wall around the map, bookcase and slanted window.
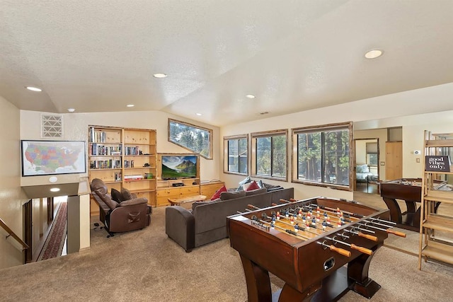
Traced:
<svg viewBox="0 0 453 302">
<path fill-rule="evenodd" d="M 21 110 L 21 139 L 40 139 L 40 117 L 42 112 Z M 131 112 L 99 112 L 99 113 L 68 113 L 64 114 L 64 140 L 88 140 L 88 125 L 113 127 L 131 127 L 157 130 L 157 151 L 159 153 L 189 153 L 188 150 L 168 142 L 168 118 L 189 122 L 213 131 L 213 153 L 219 154 L 219 128 L 212 125 L 195 122 L 176 115 L 168 115 L 160 111 L 131 111 Z M 87 157 L 88 161 L 88 157 Z M 213 160 L 201 158 L 200 178 L 211 180 L 219 178 L 219 156 Z M 59 175 L 57 183 L 79 182 L 79 177 L 85 174 Z M 21 178 L 21 185 L 49 184 L 48 176 Z"/>
</svg>

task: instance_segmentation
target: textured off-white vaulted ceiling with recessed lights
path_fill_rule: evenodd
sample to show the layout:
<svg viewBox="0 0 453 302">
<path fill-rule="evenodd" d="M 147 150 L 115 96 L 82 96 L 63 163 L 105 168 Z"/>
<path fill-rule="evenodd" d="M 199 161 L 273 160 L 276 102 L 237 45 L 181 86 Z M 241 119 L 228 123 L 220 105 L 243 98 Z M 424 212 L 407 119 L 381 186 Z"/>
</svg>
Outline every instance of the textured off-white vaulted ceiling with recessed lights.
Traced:
<svg viewBox="0 0 453 302">
<path fill-rule="evenodd" d="M 453 82 L 452 16 L 452 0 L 0 0 L 0 95 L 258 120 Z"/>
</svg>

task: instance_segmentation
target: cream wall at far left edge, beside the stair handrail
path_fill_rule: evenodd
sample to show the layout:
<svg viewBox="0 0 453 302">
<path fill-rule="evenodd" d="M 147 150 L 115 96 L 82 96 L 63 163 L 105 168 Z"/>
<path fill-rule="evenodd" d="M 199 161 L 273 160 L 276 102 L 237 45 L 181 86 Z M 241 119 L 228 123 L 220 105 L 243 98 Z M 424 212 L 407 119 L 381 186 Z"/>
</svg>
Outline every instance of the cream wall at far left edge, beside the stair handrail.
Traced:
<svg viewBox="0 0 453 302">
<path fill-rule="evenodd" d="M 0 218 L 23 239 L 22 205 L 27 199 L 21 190 L 19 116 L 18 108 L 0 97 Z M 12 237 L 5 239 L 3 228 L 0 234 L 0 269 L 21 265 L 19 245 Z"/>
</svg>

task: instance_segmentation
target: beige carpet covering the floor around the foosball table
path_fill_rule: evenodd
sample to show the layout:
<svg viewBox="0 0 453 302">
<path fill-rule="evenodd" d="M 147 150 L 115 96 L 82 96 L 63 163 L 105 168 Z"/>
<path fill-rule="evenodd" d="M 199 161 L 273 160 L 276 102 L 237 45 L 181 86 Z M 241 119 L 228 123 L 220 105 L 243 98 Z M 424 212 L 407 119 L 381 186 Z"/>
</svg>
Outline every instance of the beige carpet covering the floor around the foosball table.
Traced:
<svg viewBox="0 0 453 302">
<path fill-rule="evenodd" d="M 186 253 L 165 234 L 165 208 L 151 226 L 106 238 L 91 230 L 91 249 L 0 270 L 1 301 L 246 301 L 245 277 L 229 239 Z M 380 248 L 369 277 L 382 285 L 372 301 L 446 301 L 453 269 Z M 309 277 L 309 272 L 306 272 Z M 272 276 L 273 291 L 282 281 Z M 369 301 L 348 292 L 340 301 Z"/>
</svg>

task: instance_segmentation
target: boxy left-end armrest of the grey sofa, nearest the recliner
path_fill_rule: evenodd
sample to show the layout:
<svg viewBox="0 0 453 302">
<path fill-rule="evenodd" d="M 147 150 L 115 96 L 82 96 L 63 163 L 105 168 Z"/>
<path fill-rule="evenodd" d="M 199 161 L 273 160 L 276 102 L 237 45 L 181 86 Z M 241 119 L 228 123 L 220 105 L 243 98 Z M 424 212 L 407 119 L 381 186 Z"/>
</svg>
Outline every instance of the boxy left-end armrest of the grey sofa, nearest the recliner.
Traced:
<svg viewBox="0 0 453 302">
<path fill-rule="evenodd" d="M 165 233 L 185 252 L 191 252 L 195 248 L 195 217 L 183 207 L 166 207 Z"/>
</svg>

